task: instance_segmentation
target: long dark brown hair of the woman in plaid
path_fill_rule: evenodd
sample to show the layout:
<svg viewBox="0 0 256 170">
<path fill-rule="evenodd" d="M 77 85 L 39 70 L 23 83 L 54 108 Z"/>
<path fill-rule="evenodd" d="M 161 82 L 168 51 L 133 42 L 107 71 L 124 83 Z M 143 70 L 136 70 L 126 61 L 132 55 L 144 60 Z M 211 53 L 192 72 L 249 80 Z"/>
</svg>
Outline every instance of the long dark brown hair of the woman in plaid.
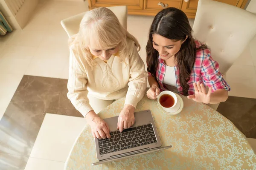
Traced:
<svg viewBox="0 0 256 170">
<path fill-rule="evenodd" d="M 160 11 L 153 20 L 150 27 L 148 43 L 146 46 L 148 72 L 156 78 L 157 67 L 159 64 L 158 51 L 153 48 L 152 34 L 159 34 L 171 40 L 185 40 L 180 47 L 180 51 L 175 54 L 177 67 L 180 71 L 179 82 L 182 87 L 183 95 L 188 95 L 190 74 L 195 63 L 195 53 L 198 49 L 207 48 L 202 45 L 196 48 L 195 40 L 192 37 L 192 28 L 186 14 L 177 8 L 166 8 Z"/>
</svg>

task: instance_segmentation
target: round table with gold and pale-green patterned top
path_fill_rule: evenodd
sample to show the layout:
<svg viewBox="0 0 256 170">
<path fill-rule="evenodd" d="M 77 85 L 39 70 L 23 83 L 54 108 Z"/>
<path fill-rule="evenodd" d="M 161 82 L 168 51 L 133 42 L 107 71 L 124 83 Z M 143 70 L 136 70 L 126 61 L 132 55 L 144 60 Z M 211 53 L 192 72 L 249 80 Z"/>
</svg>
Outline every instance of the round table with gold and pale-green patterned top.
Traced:
<svg viewBox="0 0 256 170">
<path fill-rule="evenodd" d="M 85 125 L 70 151 L 65 169 L 256 170 L 256 154 L 232 122 L 203 103 L 181 97 L 184 108 L 175 116 L 162 113 L 157 101 L 146 96 L 136 109 L 151 110 L 162 146 L 172 145 L 172 148 L 92 166 L 98 160 L 90 126 Z M 102 119 L 118 116 L 124 102 L 125 98 L 119 99 L 98 115 Z"/>
</svg>

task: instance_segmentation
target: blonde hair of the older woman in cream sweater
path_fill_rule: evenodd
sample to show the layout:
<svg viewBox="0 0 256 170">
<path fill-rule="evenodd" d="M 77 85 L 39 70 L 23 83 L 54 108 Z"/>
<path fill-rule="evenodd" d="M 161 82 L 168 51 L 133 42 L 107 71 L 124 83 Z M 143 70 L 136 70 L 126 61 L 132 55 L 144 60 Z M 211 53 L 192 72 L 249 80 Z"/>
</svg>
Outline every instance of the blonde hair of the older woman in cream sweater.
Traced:
<svg viewBox="0 0 256 170">
<path fill-rule="evenodd" d="M 129 55 L 127 39 L 133 40 L 140 51 L 138 40 L 122 27 L 116 15 L 108 8 L 87 11 L 80 23 L 79 33 L 70 37 L 69 46 L 79 60 L 86 60 L 91 68 L 96 66 L 88 45 L 96 49 L 110 49 L 119 45 L 119 57 L 125 62 Z"/>
</svg>

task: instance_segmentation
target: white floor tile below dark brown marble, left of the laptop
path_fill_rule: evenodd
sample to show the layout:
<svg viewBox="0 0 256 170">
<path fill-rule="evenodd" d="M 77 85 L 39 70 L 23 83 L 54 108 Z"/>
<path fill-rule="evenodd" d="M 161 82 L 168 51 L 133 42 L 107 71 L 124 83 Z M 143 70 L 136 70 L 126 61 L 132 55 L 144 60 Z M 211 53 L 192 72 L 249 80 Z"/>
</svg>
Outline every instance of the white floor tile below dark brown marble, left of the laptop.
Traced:
<svg viewBox="0 0 256 170">
<path fill-rule="evenodd" d="M 85 124 L 81 117 L 47 113 L 30 157 L 65 162 Z"/>
</svg>

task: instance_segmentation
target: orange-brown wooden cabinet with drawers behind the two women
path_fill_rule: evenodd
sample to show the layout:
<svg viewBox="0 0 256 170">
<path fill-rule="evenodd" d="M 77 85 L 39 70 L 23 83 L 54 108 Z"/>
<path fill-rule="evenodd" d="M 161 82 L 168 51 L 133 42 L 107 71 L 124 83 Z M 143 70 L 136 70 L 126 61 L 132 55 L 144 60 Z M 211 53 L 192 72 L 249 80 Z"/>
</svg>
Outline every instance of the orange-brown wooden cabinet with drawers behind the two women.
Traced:
<svg viewBox="0 0 256 170">
<path fill-rule="evenodd" d="M 189 18 L 195 18 L 198 0 L 88 0 L 89 9 L 101 6 L 127 6 L 128 14 L 154 16 L 163 8 L 181 9 Z M 244 8 L 247 0 L 216 0 L 239 8 Z"/>
</svg>

